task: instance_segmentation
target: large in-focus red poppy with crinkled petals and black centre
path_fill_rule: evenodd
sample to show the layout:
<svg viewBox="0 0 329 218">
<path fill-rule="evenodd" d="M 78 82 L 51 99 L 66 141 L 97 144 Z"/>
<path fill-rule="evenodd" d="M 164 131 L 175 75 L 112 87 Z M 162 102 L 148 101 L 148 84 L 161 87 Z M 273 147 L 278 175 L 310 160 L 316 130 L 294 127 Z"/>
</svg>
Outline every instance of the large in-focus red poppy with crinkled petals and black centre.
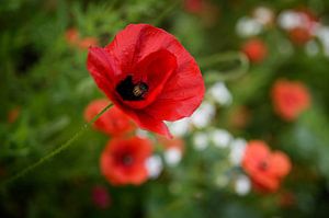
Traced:
<svg viewBox="0 0 329 218">
<path fill-rule="evenodd" d="M 205 91 L 193 57 L 174 36 L 147 24 L 128 25 L 105 48 L 91 47 L 87 67 L 141 128 L 168 137 L 163 121 L 190 116 Z"/>
</svg>

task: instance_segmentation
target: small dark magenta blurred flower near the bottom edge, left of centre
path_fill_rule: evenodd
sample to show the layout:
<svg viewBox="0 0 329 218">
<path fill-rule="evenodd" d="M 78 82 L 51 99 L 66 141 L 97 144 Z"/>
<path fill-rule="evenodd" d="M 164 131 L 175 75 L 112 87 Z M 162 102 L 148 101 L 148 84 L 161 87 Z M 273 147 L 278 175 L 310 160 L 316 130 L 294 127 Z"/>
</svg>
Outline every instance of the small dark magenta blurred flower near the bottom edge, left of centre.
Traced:
<svg viewBox="0 0 329 218">
<path fill-rule="evenodd" d="M 93 204 L 100 209 L 109 208 L 111 204 L 111 198 L 106 187 L 101 185 L 95 185 L 91 191 L 91 198 Z"/>
</svg>

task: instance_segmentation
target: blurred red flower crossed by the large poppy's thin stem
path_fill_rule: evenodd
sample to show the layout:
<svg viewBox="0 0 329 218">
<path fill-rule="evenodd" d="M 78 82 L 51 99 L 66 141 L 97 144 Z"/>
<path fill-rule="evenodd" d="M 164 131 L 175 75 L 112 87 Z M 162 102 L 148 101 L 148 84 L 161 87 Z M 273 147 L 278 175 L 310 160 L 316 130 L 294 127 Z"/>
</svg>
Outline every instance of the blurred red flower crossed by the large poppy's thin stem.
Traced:
<svg viewBox="0 0 329 218">
<path fill-rule="evenodd" d="M 100 113 L 110 101 L 105 99 L 92 101 L 84 110 L 84 119 L 90 122 Z M 118 107 L 112 106 L 95 123 L 93 127 L 100 131 L 112 136 L 122 136 L 136 128 L 133 121 L 125 115 Z"/>
</svg>

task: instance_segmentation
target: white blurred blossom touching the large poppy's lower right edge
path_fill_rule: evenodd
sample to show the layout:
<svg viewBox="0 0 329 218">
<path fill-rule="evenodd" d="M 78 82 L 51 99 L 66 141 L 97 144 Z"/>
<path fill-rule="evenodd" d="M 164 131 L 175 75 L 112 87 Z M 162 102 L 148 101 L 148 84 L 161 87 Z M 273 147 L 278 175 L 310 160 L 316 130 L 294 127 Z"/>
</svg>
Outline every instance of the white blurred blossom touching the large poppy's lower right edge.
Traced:
<svg viewBox="0 0 329 218">
<path fill-rule="evenodd" d="M 197 128 L 206 127 L 215 116 L 216 108 L 214 105 L 204 102 L 191 116 L 193 125 Z"/>
</svg>

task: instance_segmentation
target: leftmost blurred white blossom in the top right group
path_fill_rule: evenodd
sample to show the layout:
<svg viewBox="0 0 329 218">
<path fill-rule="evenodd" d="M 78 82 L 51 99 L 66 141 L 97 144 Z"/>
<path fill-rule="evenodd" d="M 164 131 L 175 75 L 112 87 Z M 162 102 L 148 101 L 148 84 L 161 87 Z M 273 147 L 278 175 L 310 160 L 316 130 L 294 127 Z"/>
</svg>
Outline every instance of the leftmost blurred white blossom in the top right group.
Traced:
<svg viewBox="0 0 329 218">
<path fill-rule="evenodd" d="M 256 19 L 251 19 L 248 16 L 241 18 L 236 25 L 237 34 L 242 37 L 258 35 L 261 31 L 262 24 L 259 23 Z"/>
</svg>

